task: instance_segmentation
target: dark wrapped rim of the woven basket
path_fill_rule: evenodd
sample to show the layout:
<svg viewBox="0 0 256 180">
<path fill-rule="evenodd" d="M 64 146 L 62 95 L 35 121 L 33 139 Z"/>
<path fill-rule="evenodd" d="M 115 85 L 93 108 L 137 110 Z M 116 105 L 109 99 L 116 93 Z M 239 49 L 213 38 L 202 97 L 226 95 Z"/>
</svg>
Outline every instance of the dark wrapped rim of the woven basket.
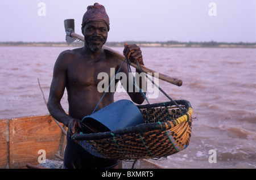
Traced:
<svg viewBox="0 0 256 180">
<path fill-rule="evenodd" d="M 181 117 L 187 116 L 187 119 L 189 119 L 188 111 L 189 111 L 189 108 L 192 109 L 190 102 L 187 100 L 174 100 L 174 101 L 179 105 L 185 106 L 185 109 L 187 110 L 187 112 L 183 114 Z M 168 102 L 161 102 L 161 103 L 155 103 L 155 104 L 137 105 L 137 107 L 139 109 L 158 108 L 158 107 L 160 108 L 164 106 L 173 106 L 175 105 L 175 102 L 168 101 Z M 113 135 L 117 136 L 122 134 L 147 132 L 152 130 L 166 130 L 167 128 L 169 128 L 168 122 L 174 123 L 175 126 L 177 125 L 175 120 L 176 119 L 172 119 L 170 121 L 162 122 L 162 123 L 161 122 L 143 123 L 141 125 L 126 127 L 123 129 L 118 129 L 118 130 L 108 131 L 108 132 L 97 132 L 97 133 L 90 133 L 90 134 L 73 134 L 71 139 L 72 140 L 100 140 L 105 138 L 112 138 Z M 166 126 L 166 123 L 167 123 L 167 126 Z"/>
</svg>

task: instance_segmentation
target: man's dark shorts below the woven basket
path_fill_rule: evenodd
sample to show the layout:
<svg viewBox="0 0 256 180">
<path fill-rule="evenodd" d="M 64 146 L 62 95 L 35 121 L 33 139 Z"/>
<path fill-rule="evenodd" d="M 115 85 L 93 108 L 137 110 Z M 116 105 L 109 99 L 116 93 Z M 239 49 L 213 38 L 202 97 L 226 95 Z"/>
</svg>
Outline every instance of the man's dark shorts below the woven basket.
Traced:
<svg viewBox="0 0 256 180">
<path fill-rule="evenodd" d="M 119 164 L 119 160 L 96 157 L 87 152 L 81 145 L 67 138 L 64 153 L 64 166 L 68 169 L 108 169 Z"/>
</svg>

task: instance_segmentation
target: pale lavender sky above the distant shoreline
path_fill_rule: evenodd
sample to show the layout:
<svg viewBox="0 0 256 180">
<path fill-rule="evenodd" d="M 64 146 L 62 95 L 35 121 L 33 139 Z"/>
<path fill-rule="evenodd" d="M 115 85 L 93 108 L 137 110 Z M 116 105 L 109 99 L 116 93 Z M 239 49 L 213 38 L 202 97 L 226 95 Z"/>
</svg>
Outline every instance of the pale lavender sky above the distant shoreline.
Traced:
<svg viewBox="0 0 256 180">
<path fill-rule="evenodd" d="M 65 41 L 64 19 L 81 35 L 94 2 L 109 15 L 109 42 L 256 42 L 255 0 L 1 0 L 0 41 Z"/>
</svg>

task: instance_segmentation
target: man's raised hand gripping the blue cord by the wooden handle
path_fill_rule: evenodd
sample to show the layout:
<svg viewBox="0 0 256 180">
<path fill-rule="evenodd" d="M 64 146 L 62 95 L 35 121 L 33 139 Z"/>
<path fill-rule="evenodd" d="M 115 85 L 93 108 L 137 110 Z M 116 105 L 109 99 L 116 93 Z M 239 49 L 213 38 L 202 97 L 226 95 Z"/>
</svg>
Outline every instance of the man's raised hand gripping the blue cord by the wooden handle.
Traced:
<svg viewBox="0 0 256 180">
<path fill-rule="evenodd" d="M 139 48 L 139 46 L 136 44 L 128 45 L 127 43 L 125 43 L 124 46 L 123 55 L 125 55 L 130 62 L 136 63 L 136 61 L 138 61 L 141 65 L 144 65 L 141 48 Z"/>
</svg>

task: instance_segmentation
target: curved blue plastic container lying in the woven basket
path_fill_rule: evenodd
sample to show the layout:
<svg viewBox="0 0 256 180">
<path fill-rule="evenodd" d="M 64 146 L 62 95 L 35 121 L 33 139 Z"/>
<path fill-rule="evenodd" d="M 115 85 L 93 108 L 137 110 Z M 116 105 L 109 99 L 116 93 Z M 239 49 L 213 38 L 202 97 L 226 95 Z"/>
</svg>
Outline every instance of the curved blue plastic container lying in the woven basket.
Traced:
<svg viewBox="0 0 256 180">
<path fill-rule="evenodd" d="M 93 127 L 98 132 L 114 131 L 144 123 L 141 111 L 129 100 L 119 100 L 88 115 L 82 123 Z M 86 129 L 84 133 L 88 133 Z"/>
</svg>

